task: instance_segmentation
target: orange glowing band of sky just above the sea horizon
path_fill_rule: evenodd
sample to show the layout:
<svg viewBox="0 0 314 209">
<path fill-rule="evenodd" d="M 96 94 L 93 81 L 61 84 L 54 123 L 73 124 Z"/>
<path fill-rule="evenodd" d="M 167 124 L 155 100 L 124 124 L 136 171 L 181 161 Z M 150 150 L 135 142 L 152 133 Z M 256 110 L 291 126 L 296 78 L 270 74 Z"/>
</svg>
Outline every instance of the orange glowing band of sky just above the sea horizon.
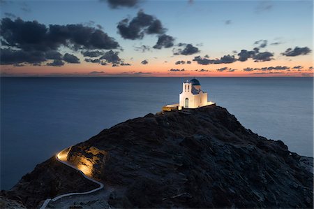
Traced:
<svg viewBox="0 0 314 209">
<path fill-rule="evenodd" d="M 209 64 L 200 65 L 196 62 L 191 64 L 174 64 L 175 60 L 172 57 L 171 61 L 158 62 L 158 60 L 152 60 L 147 65 L 142 65 L 139 62 L 130 62 L 130 66 L 117 66 L 112 67 L 111 65 L 102 66 L 100 64 L 66 64 L 61 67 L 57 66 L 1 66 L 1 75 L 10 76 L 147 76 L 147 77 L 253 77 L 253 76 L 313 76 L 313 61 L 308 59 L 301 60 L 272 60 L 270 62 L 253 62 L 248 60 L 246 62 L 234 62 L 231 64 Z M 182 59 L 191 60 L 191 59 Z M 273 71 L 244 71 L 243 69 L 261 69 L 262 67 L 269 66 L 288 66 L 288 70 L 273 70 Z M 303 66 L 302 69 L 292 69 L 294 66 Z M 217 71 L 227 67 L 225 71 Z M 184 71 L 170 71 L 170 69 L 179 69 Z M 200 70 L 203 69 L 203 72 Z M 230 72 L 229 69 L 234 69 Z M 197 70 L 197 71 L 195 71 Z M 269 73 L 271 72 L 271 73 Z"/>
</svg>

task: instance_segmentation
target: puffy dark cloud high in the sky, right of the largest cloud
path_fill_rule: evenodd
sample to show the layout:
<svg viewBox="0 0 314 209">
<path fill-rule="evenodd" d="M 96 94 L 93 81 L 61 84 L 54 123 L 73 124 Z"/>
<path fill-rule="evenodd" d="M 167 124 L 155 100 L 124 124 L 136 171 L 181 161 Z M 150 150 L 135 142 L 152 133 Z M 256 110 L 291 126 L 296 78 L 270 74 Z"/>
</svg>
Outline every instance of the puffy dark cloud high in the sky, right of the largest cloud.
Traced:
<svg viewBox="0 0 314 209">
<path fill-rule="evenodd" d="M 145 14 L 143 10 L 139 10 L 132 20 L 121 20 L 117 29 L 122 38 L 130 40 L 142 39 L 144 34 L 164 34 L 166 31 L 160 20 Z"/>
</svg>

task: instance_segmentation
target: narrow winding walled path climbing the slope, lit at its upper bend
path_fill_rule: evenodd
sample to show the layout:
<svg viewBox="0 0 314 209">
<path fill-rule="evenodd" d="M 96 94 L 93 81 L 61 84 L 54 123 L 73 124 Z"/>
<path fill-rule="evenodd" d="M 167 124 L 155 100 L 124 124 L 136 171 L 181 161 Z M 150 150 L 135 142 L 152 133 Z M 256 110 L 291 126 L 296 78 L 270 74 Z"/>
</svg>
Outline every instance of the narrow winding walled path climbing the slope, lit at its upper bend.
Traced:
<svg viewBox="0 0 314 209">
<path fill-rule="evenodd" d="M 59 154 L 56 155 L 57 161 L 61 162 L 61 164 L 65 164 L 66 166 L 74 168 L 76 171 L 79 171 L 84 176 L 84 178 L 87 178 L 88 180 L 91 180 L 92 182 L 95 182 L 97 185 L 99 185 L 99 187 L 96 188 L 96 189 L 92 189 L 91 191 L 88 191 L 88 192 L 73 192 L 73 193 L 68 193 L 68 194 L 61 194 L 59 196 L 54 197 L 53 199 L 46 199 L 45 202 L 43 203 L 43 205 L 40 207 L 40 209 L 45 209 L 47 207 L 48 203 L 50 203 L 50 201 L 54 202 L 54 201 L 57 201 L 57 200 L 65 197 L 65 196 L 91 194 L 91 193 L 96 192 L 96 191 L 98 191 L 100 189 L 103 189 L 103 184 L 102 183 L 100 183 L 100 182 L 98 182 L 98 181 L 96 181 L 96 180 L 94 180 L 92 178 L 87 177 L 87 175 L 85 175 L 82 171 L 77 169 L 75 166 L 72 166 L 71 164 L 68 164 L 68 162 L 66 162 L 66 161 L 61 161 L 61 159 L 59 159 L 58 156 L 59 156 Z"/>
</svg>

